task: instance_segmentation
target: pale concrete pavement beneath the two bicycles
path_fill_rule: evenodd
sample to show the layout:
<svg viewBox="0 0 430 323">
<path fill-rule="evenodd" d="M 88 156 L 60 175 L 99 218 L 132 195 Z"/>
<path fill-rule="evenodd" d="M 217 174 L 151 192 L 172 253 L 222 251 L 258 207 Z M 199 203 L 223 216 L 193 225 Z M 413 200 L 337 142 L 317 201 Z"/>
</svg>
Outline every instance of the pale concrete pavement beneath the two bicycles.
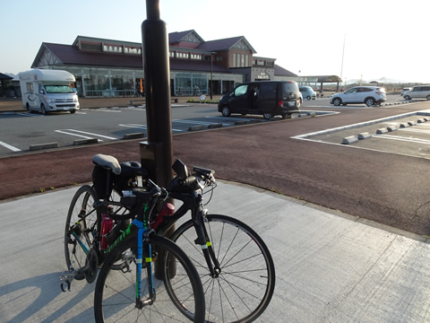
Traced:
<svg viewBox="0 0 430 323">
<path fill-rule="evenodd" d="M 91 322 L 95 284 L 61 292 L 64 225 L 76 188 L 0 206 L 0 322 Z M 219 181 L 210 213 L 249 224 L 276 266 L 258 322 L 428 322 L 430 245 L 304 201 Z"/>
</svg>

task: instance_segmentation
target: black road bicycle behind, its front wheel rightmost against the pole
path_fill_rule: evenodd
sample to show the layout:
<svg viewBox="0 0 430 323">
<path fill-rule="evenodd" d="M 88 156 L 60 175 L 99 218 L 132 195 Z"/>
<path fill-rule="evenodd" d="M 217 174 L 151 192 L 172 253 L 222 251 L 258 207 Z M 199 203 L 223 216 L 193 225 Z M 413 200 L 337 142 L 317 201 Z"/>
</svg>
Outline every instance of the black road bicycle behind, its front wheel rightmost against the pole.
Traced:
<svg viewBox="0 0 430 323">
<path fill-rule="evenodd" d="M 172 168 L 176 178 L 168 185 L 168 196 L 182 201 L 182 205 L 176 212 L 168 203 L 159 207 L 161 212 L 149 218 L 150 227 L 163 236 L 191 211 L 191 219 L 180 225 L 169 239 L 185 251 L 199 272 L 205 292 L 206 321 L 251 322 L 257 319 L 269 305 L 275 286 L 275 267 L 269 249 L 245 223 L 226 215 L 209 214 L 203 208 L 203 195 L 212 193 L 217 186 L 213 170 L 193 167 L 190 174 L 179 160 Z M 88 189 L 87 195 L 94 196 L 90 194 L 91 188 Z M 120 195 L 116 193 L 113 198 L 119 202 L 112 203 L 119 205 L 118 210 L 122 205 L 121 212 L 133 214 L 130 211 L 133 210 L 133 196 Z M 193 313 L 193 310 L 187 309 L 186 313 Z"/>
</svg>

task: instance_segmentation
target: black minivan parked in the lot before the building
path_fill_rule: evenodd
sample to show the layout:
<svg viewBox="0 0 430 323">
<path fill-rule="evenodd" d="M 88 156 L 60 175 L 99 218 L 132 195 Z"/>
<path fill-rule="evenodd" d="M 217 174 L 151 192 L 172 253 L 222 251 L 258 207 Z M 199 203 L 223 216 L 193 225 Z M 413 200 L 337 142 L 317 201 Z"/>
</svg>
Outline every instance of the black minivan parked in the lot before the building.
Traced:
<svg viewBox="0 0 430 323">
<path fill-rule="evenodd" d="M 294 81 L 255 81 L 237 85 L 218 103 L 224 117 L 232 113 L 261 114 L 270 119 L 300 111 L 300 92 Z"/>
</svg>

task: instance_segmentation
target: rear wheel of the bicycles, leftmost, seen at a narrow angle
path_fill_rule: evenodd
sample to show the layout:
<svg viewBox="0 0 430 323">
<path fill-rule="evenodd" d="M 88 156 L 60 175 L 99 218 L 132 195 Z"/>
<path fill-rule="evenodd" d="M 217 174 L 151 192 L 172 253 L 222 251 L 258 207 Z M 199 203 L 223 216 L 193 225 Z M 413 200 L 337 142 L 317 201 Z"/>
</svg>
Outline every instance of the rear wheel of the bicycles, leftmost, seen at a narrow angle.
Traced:
<svg viewBox="0 0 430 323">
<path fill-rule="evenodd" d="M 94 202 L 99 200 L 96 191 L 89 185 L 79 188 L 73 196 L 72 203 L 67 212 L 67 219 L 64 230 L 64 254 L 67 268 L 73 265 L 75 270 L 85 266 L 87 254 L 77 243 L 72 231 L 83 241 L 87 249 L 94 240 L 94 230 L 97 227 L 97 212 Z M 73 225 L 80 221 L 76 230 L 72 230 Z M 75 276 L 75 279 L 83 279 L 83 275 Z"/>
</svg>

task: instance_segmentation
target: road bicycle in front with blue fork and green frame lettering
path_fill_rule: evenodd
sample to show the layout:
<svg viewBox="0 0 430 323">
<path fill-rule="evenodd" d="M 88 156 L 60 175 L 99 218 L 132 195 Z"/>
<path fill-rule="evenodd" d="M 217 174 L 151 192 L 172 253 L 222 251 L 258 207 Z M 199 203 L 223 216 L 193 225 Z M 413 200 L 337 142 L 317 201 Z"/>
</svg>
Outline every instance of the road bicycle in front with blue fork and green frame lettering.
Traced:
<svg viewBox="0 0 430 323">
<path fill-rule="evenodd" d="M 116 162 L 112 161 L 99 159 L 96 169 L 115 170 Z M 156 235 L 148 225 L 150 214 L 154 213 L 159 201 L 166 198 L 166 193 L 165 189 L 148 179 L 145 188 L 133 188 L 133 213 L 128 214 L 114 214 L 108 206 L 116 203 L 108 198 L 99 200 L 95 189 L 89 186 L 80 188 L 73 196 L 64 238 L 66 262 L 71 266 L 62 279 L 69 289 L 73 279 L 85 277 L 92 283 L 97 275 L 99 259 L 103 261 L 95 288 L 96 322 L 204 321 L 202 283 L 193 263 L 174 242 Z M 78 220 L 71 224 L 69 220 L 76 204 L 82 208 Z M 107 215 L 103 216 L 105 212 L 109 220 Z M 117 231 L 116 240 L 107 245 L 107 234 L 98 232 L 103 232 L 106 223 L 111 222 L 110 218 L 117 221 L 113 228 L 124 227 L 126 221 L 131 223 L 124 230 Z M 82 257 L 78 264 L 83 266 L 75 270 L 74 260 L 82 254 L 86 255 L 85 263 Z M 154 261 L 161 268 L 161 278 L 155 275 Z M 65 291 L 63 284 L 62 290 Z"/>
</svg>

